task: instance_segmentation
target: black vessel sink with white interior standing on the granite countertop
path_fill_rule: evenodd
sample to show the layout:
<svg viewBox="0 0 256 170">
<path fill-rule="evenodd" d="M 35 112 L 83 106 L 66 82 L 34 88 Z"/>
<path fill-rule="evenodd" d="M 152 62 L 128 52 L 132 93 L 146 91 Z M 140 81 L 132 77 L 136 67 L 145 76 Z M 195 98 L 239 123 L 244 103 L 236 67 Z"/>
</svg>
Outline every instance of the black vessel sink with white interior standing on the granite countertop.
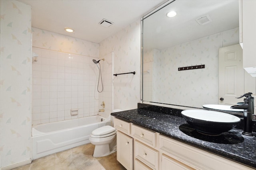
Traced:
<svg viewBox="0 0 256 170">
<path fill-rule="evenodd" d="M 220 135 L 240 122 L 239 117 L 218 111 L 193 109 L 184 110 L 181 114 L 196 131 L 205 135 Z"/>
</svg>

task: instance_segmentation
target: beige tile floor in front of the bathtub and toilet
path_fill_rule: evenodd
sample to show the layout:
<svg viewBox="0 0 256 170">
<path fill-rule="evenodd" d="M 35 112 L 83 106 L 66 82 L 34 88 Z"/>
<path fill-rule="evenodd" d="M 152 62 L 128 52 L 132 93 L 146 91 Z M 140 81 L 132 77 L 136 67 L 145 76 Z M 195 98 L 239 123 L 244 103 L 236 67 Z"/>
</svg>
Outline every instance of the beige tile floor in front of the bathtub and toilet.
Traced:
<svg viewBox="0 0 256 170">
<path fill-rule="evenodd" d="M 89 143 L 33 160 L 13 170 L 126 170 L 116 160 L 116 152 L 94 158 L 93 151 L 94 145 Z"/>
</svg>

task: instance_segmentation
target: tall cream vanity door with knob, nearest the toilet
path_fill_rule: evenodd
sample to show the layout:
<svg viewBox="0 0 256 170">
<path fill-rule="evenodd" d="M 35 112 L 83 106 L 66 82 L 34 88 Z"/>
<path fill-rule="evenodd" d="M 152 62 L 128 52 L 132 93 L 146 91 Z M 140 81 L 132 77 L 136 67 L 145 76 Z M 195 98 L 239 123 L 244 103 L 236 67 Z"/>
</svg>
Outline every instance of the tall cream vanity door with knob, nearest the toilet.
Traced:
<svg viewBox="0 0 256 170">
<path fill-rule="evenodd" d="M 116 154 L 118 162 L 127 170 L 132 170 L 133 139 L 120 131 L 116 132 Z"/>
</svg>

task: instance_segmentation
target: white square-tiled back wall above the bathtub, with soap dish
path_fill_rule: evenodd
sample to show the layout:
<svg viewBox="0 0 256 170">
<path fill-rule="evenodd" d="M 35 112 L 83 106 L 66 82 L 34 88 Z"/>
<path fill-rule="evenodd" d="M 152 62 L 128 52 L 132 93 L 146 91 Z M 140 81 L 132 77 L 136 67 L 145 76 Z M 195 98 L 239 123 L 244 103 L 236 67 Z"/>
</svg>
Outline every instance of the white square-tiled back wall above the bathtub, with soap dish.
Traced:
<svg viewBox="0 0 256 170">
<path fill-rule="evenodd" d="M 37 47 L 33 52 L 39 55 L 32 58 L 33 125 L 98 114 L 96 58 Z"/>
</svg>

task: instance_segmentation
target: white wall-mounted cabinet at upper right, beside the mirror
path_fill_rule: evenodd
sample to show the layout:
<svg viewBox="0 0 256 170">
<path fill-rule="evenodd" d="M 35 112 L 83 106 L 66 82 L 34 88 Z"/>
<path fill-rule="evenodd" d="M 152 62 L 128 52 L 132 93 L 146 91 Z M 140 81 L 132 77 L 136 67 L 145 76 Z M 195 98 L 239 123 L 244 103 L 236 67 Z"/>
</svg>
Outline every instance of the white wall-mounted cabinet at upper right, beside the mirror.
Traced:
<svg viewBox="0 0 256 170">
<path fill-rule="evenodd" d="M 256 1 L 239 1 L 240 44 L 243 48 L 243 67 L 256 76 Z M 254 74 L 254 75 L 253 75 Z"/>
</svg>

